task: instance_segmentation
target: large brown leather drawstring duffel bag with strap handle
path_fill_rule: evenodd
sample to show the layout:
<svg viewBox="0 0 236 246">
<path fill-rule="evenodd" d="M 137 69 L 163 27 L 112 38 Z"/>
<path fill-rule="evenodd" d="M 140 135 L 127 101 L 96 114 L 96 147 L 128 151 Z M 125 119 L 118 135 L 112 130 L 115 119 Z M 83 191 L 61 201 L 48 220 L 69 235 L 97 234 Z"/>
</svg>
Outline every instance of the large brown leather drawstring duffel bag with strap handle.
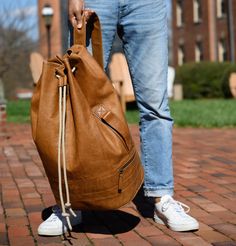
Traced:
<svg viewBox="0 0 236 246">
<path fill-rule="evenodd" d="M 67 54 L 44 62 L 32 98 L 33 139 L 64 212 L 70 206 L 119 208 L 143 181 L 118 96 L 101 68 L 98 17 L 90 21 L 93 56 L 85 48 L 83 25 L 80 32 L 74 30 L 75 44 Z"/>
</svg>

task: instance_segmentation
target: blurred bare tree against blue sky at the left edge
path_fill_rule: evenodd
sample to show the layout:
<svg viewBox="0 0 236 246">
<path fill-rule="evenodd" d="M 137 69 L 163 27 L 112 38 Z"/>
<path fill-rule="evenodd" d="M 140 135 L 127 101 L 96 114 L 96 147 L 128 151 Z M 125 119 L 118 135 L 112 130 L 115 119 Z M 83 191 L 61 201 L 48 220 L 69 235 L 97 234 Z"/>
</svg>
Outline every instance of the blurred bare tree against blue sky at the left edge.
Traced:
<svg viewBox="0 0 236 246">
<path fill-rule="evenodd" d="M 0 78 L 7 98 L 15 97 L 18 87 L 32 87 L 29 55 L 37 48 L 30 37 L 34 25 L 29 24 L 25 11 L 12 14 L 12 8 L 0 12 Z"/>
</svg>

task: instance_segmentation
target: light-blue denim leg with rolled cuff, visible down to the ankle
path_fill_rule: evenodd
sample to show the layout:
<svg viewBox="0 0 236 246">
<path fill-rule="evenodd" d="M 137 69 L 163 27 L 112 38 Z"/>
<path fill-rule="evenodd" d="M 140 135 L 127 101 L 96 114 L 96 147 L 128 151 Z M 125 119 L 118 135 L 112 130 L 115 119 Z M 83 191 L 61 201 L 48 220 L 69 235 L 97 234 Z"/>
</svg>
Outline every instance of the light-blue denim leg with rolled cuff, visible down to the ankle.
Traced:
<svg viewBox="0 0 236 246">
<path fill-rule="evenodd" d="M 123 0 L 119 26 L 140 111 L 144 193 L 173 194 L 166 0 Z"/>
</svg>

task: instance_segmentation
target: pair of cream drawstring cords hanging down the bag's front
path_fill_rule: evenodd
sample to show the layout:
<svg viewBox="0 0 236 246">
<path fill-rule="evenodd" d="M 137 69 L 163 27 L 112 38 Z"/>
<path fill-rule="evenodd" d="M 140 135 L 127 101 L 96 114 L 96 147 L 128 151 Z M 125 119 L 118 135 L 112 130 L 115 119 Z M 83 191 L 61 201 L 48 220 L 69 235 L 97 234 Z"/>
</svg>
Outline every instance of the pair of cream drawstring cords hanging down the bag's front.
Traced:
<svg viewBox="0 0 236 246">
<path fill-rule="evenodd" d="M 61 201 L 62 216 L 66 218 L 68 227 L 72 230 L 70 223 L 70 215 L 74 217 L 77 215 L 71 208 L 70 194 L 68 179 L 66 173 L 66 154 L 65 154 L 65 122 L 66 122 L 66 93 L 67 85 L 62 81 L 63 78 L 60 75 L 56 75 L 59 79 L 59 136 L 58 136 L 58 183 L 59 183 L 59 195 Z M 63 168 L 64 184 L 66 191 L 66 203 L 64 202 L 63 191 L 62 191 L 62 173 L 61 168 Z M 69 213 L 68 213 L 69 211 Z"/>
</svg>

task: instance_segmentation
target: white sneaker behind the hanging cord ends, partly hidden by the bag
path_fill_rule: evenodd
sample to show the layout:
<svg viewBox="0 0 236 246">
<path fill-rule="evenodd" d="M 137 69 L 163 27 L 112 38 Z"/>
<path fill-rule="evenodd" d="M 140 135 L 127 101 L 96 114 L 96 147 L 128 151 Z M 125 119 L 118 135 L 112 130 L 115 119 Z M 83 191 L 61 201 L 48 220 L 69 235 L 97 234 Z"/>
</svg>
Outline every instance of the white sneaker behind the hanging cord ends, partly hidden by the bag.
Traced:
<svg viewBox="0 0 236 246">
<path fill-rule="evenodd" d="M 72 226 L 82 222 L 81 211 L 76 211 L 77 217 L 71 215 L 70 222 Z M 53 208 L 53 213 L 42 222 L 38 227 L 38 234 L 41 236 L 59 236 L 68 231 L 66 218 L 62 216 L 61 209 L 58 206 Z"/>
</svg>

